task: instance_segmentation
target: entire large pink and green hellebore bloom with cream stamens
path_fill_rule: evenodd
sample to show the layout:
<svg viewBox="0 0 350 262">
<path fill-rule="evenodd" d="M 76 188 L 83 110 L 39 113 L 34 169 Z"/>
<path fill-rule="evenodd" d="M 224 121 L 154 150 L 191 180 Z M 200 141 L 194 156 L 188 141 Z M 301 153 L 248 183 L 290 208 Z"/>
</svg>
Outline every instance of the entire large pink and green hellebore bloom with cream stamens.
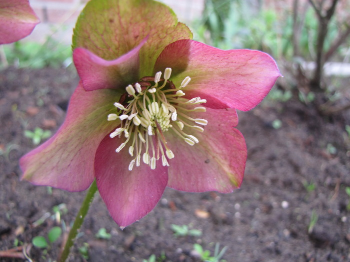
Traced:
<svg viewBox="0 0 350 262">
<path fill-rule="evenodd" d="M 165 187 L 232 192 L 246 146 L 236 109 L 280 76 L 260 51 L 220 50 L 153 0 L 92 0 L 73 36 L 80 83 L 57 133 L 23 156 L 23 179 L 68 191 L 96 179 L 114 221 L 149 213 Z"/>
</svg>

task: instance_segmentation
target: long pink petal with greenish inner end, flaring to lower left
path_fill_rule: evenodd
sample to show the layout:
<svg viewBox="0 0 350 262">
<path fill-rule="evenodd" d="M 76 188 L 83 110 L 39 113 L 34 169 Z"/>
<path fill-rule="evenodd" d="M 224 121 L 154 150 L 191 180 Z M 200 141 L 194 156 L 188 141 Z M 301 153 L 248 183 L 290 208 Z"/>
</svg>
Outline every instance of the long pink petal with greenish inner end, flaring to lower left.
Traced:
<svg viewBox="0 0 350 262">
<path fill-rule="evenodd" d="M 81 83 L 56 134 L 20 160 L 22 179 L 68 191 L 85 190 L 94 179 L 93 160 L 103 137 L 115 126 L 107 115 L 115 110 L 118 93 L 103 89 L 86 92 Z"/>
</svg>

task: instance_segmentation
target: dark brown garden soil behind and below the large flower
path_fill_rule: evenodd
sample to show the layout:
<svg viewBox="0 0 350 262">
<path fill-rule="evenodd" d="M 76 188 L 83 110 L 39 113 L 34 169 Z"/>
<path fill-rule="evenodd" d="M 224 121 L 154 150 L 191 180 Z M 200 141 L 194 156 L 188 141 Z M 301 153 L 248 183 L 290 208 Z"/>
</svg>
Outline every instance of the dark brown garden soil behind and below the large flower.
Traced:
<svg viewBox="0 0 350 262">
<path fill-rule="evenodd" d="M 0 74 L 0 251 L 71 225 L 85 195 L 19 181 L 18 159 L 35 146 L 24 130 L 51 130 L 62 123 L 78 79 L 69 69 L 6 69 Z M 245 177 L 232 194 L 194 194 L 166 189 L 154 210 L 123 231 L 96 196 L 69 261 L 201 261 L 200 244 L 213 254 L 227 247 L 227 262 L 350 261 L 350 140 L 348 112 L 321 117 L 298 100 L 267 102 L 240 113 L 238 128 L 248 147 Z M 279 129 L 272 121 L 279 119 Z M 331 145 L 333 147 L 331 147 Z M 332 149 L 332 150 L 330 150 Z M 60 221 L 52 208 L 64 203 Z M 46 218 L 42 224 L 40 218 Z M 311 215 L 317 217 L 310 226 Z M 175 237 L 171 224 L 198 229 L 202 236 Z M 311 223 L 312 224 L 312 223 Z M 110 239 L 95 234 L 105 228 Z M 63 227 L 64 229 L 64 227 Z M 48 250 L 31 247 L 32 261 L 54 261 L 63 237 Z M 19 253 L 20 255 L 21 253 Z M 0 262 L 23 261 L 0 258 Z"/>
</svg>

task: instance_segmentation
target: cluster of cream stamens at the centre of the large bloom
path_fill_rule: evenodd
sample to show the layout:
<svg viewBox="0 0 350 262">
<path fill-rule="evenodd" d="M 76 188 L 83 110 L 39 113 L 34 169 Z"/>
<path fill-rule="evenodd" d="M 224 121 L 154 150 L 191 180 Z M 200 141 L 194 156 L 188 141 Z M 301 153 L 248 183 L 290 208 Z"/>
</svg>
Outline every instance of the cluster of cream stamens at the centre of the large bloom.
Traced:
<svg viewBox="0 0 350 262">
<path fill-rule="evenodd" d="M 198 143 L 198 139 L 183 131 L 186 126 L 191 130 L 203 132 L 201 126 L 207 121 L 201 118 L 191 118 L 188 113 L 205 112 L 205 107 L 195 106 L 205 103 L 205 99 L 194 97 L 186 99 L 181 90 L 190 81 L 187 76 L 179 87 L 169 81 L 171 68 L 157 72 L 154 77 L 142 77 L 140 81 L 128 85 L 126 92 L 121 95 L 118 102 L 114 103 L 116 113 L 109 114 L 108 121 L 121 120 L 120 127 L 110 133 L 110 137 L 124 136 L 125 141 L 115 150 L 120 152 L 128 145 L 128 152 L 133 159 L 130 161 L 129 170 L 133 166 L 139 166 L 141 161 L 155 169 L 156 160 L 161 158 L 163 166 L 169 166 L 168 159 L 174 158 L 174 154 L 167 146 L 164 133 L 171 130 L 188 145 Z M 200 126 L 201 125 L 201 126 Z"/>
</svg>

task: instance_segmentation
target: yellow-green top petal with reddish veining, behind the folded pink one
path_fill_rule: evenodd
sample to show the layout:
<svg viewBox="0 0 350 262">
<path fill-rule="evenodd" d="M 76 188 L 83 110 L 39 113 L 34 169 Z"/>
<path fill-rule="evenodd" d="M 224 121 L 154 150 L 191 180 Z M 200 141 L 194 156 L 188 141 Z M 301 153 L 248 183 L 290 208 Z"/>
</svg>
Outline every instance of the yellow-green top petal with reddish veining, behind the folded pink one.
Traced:
<svg viewBox="0 0 350 262">
<path fill-rule="evenodd" d="M 73 49 L 84 47 L 113 60 L 149 37 L 140 50 L 140 77 L 151 75 L 162 49 L 192 33 L 166 5 L 153 0 L 91 0 L 80 13 L 73 34 Z"/>
</svg>

